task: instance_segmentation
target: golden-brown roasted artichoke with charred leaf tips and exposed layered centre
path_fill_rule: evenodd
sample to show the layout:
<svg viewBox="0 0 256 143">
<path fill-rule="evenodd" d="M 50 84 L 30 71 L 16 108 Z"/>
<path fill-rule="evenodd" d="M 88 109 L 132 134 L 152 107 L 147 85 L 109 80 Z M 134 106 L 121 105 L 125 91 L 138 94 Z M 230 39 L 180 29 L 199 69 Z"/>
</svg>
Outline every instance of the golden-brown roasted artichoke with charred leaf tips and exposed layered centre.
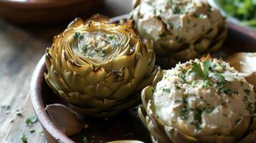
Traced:
<svg viewBox="0 0 256 143">
<path fill-rule="evenodd" d="M 92 117 L 111 117 L 138 104 L 136 93 L 158 71 L 153 49 L 133 21 L 111 24 L 99 15 L 72 21 L 54 36 L 45 59 L 49 87 L 76 112 Z"/>
</svg>

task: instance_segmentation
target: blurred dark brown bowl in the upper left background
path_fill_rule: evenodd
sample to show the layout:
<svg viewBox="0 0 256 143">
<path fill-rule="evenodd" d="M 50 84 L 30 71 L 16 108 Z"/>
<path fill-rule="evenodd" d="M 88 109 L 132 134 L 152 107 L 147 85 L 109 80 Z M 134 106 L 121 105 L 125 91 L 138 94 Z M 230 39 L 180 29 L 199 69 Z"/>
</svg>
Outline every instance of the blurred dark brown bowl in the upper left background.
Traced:
<svg viewBox="0 0 256 143">
<path fill-rule="evenodd" d="M 0 0 L 0 17 L 18 24 L 52 24 L 88 16 L 101 3 L 103 0 Z"/>
</svg>

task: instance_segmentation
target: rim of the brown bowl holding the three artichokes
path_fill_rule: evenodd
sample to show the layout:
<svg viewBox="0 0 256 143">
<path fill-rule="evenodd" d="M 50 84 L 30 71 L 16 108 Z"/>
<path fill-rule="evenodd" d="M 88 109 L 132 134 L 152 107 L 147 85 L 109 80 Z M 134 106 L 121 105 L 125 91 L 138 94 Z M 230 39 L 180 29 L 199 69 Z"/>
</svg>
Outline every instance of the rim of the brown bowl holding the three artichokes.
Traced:
<svg viewBox="0 0 256 143">
<path fill-rule="evenodd" d="M 116 16 L 110 21 L 118 21 L 128 17 L 128 14 Z M 234 23 L 229 23 L 229 30 L 235 31 L 237 34 L 246 36 L 250 41 L 253 41 L 256 45 L 256 32 L 247 29 L 245 26 L 240 26 Z M 42 82 L 44 80 L 44 72 L 46 71 L 45 65 L 45 56 L 43 55 L 39 60 L 37 66 L 34 69 L 32 74 L 32 80 L 30 83 L 30 96 L 32 100 L 32 107 L 35 114 L 37 115 L 39 122 L 42 124 L 42 127 L 52 136 L 54 139 L 58 139 L 60 142 L 73 143 L 72 139 L 67 137 L 60 129 L 58 129 L 54 123 L 49 119 L 47 112 L 44 110 L 44 104 L 42 101 Z"/>
</svg>

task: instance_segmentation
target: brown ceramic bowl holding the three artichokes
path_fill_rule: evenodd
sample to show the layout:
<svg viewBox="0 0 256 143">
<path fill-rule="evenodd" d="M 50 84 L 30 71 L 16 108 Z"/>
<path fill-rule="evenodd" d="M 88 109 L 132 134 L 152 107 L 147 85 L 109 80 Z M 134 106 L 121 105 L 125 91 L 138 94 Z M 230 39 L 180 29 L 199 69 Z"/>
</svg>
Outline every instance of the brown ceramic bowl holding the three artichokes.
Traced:
<svg viewBox="0 0 256 143">
<path fill-rule="evenodd" d="M 119 18 L 115 18 L 119 19 Z M 237 51 L 255 51 L 256 52 L 256 33 L 247 29 L 229 24 L 229 36 L 222 50 L 227 54 Z M 89 125 L 87 129 L 79 134 L 67 137 L 60 129 L 52 123 L 45 112 L 47 104 L 62 103 L 57 96 L 52 93 L 44 81 L 44 72 L 46 71 L 44 56 L 37 64 L 31 82 L 31 99 L 34 112 L 37 114 L 39 122 L 42 124 L 44 134 L 49 143 L 52 142 L 82 142 L 83 137 L 87 137 L 88 142 L 108 142 L 119 139 L 138 139 L 143 142 L 151 142 L 148 131 L 141 123 L 137 115 L 137 109 L 130 109 L 118 114 L 113 119 L 85 119 Z"/>
</svg>

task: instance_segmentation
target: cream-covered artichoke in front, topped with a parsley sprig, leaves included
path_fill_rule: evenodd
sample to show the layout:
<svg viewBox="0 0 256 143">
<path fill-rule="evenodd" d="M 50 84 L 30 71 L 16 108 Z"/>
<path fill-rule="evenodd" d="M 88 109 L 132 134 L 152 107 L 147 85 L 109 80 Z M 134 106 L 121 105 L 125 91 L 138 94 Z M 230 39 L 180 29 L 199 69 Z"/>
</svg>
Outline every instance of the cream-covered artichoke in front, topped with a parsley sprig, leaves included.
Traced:
<svg viewBox="0 0 256 143">
<path fill-rule="evenodd" d="M 252 142 L 255 92 L 228 63 L 195 59 L 161 71 L 138 114 L 153 142 Z"/>
</svg>

